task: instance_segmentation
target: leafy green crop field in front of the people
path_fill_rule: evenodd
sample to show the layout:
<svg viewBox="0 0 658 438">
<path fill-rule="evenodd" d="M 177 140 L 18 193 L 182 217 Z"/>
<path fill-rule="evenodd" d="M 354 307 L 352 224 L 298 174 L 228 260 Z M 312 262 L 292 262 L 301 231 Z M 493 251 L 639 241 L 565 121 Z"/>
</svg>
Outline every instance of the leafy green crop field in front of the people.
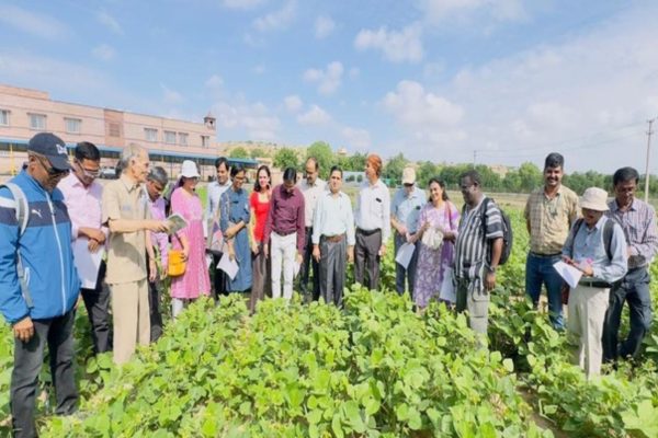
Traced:
<svg viewBox="0 0 658 438">
<path fill-rule="evenodd" d="M 523 298 L 527 234 L 520 210 L 508 210 L 515 244 L 492 297 L 489 350 L 476 348 L 464 315 L 439 304 L 418 314 L 408 297 L 392 292 L 390 251 L 383 290 L 352 286 L 342 310 L 296 298 L 266 300 L 250 316 L 239 296 L 219 307 L 200 300 L 123 368 L 110 354 L 91 355 L 81 307 L 81 408 L 52 416 L 44 368 L 41 436 L 658 436 L 656 316 L 642 362 L 587 381 L 570 364 L 567 337 Z M 0 436 L 9 434 L 12 348 L 3 324 Z"/>
</svg>

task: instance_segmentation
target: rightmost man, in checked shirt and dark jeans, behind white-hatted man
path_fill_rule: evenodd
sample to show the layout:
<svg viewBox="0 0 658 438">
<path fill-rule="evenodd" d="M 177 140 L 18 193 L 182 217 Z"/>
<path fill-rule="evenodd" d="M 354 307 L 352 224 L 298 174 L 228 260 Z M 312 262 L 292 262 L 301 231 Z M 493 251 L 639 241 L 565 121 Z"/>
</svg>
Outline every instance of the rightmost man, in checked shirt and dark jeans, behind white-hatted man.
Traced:
<svg viewBox="0 0 658 438">
<path fill-rule="evenodd" d="M 617 170 L 613 177 L 614 200 L 609 203 L 608 216 L 624 230 L 628 246 L 628 272 L 621 284 L 610 292 L 610 306 L 603 326 L 603 360 L 614 361 L 619 356 L 636 357 L 644 336 L 651 327 L 651 295 L 648 266 L 658 253 L 658 234 L 654 208 L 635 198 L 639 174 L 633 168 Z M 620 321 L 624 302 L 631 310 L 631 331 L 617 345 Z"/>
</svg>

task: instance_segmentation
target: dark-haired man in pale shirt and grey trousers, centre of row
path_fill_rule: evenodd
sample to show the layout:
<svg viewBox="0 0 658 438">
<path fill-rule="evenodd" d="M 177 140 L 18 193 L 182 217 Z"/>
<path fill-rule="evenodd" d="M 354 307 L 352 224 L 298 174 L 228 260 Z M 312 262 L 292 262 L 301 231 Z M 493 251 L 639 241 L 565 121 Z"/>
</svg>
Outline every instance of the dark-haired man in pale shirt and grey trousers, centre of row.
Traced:
<svg viewBox="0 0 658 438">
<path fill-rule="evenodd" d="M 342 306 L 345 255 L 354 261 L 354 215 L 350 197 L 340 191 L 342 170 L 334 165 L 329 191 L 322 192 L 313 220 L 313 257 L 319 264 L 320 296 L 325 302 Z M 347 240 L 347 245 L 345 245 Z"/>
</svg>

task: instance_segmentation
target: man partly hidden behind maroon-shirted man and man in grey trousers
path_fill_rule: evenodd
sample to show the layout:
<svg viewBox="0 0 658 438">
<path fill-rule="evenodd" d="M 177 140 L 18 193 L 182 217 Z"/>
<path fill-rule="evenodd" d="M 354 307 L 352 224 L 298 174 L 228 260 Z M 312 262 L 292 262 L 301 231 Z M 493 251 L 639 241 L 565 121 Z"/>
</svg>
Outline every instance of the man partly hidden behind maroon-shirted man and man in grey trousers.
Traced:
<svg viewBox="0 0 658 438">
<path fill-rule="evenodd" d="M 306 221 L 306 242 L 304 242 L 304 260 L 302 261 L 299 269 L 299 289 L 304 297 L 308 296 L 309 267 L 313 266 L 311 298 L 314 301 L 317 301 L 320 297 L 320 273 L 318 270 L 318 262 L 311 256 L 313 244 L 310 237 L 313 234 L 313 218 L 315 216 L 316 206 L 320 195 L 327 189 L 327 183 L 318 177 L 320 165 L 318 164 L 317 159 L 309 157 L 306 160 L 305 171 L 306 178 L 299 182 L 299 189 L 304 194 L 304 219 Z"/>
</svg>

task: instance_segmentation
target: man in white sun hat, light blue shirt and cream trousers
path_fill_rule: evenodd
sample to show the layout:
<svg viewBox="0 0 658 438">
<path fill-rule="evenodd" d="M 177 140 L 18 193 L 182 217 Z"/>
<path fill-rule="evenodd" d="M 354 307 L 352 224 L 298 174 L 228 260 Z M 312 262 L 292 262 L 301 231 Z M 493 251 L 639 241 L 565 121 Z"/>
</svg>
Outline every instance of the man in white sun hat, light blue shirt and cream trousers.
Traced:
<svg viewBox="0 0 658 438">
<path fill-rule="evenodd" d="M 580 198 L 578 219 L 563 247 L 566 263 L 582 272 L 569 292 L 567 330 L 578 337 L 578 362 L 587 376 L 601 372 L 603 321 L 612 285 L 626 274 L 624 231 L 608 211 L 608 193 L 598 187 Z"/>
</svg>

